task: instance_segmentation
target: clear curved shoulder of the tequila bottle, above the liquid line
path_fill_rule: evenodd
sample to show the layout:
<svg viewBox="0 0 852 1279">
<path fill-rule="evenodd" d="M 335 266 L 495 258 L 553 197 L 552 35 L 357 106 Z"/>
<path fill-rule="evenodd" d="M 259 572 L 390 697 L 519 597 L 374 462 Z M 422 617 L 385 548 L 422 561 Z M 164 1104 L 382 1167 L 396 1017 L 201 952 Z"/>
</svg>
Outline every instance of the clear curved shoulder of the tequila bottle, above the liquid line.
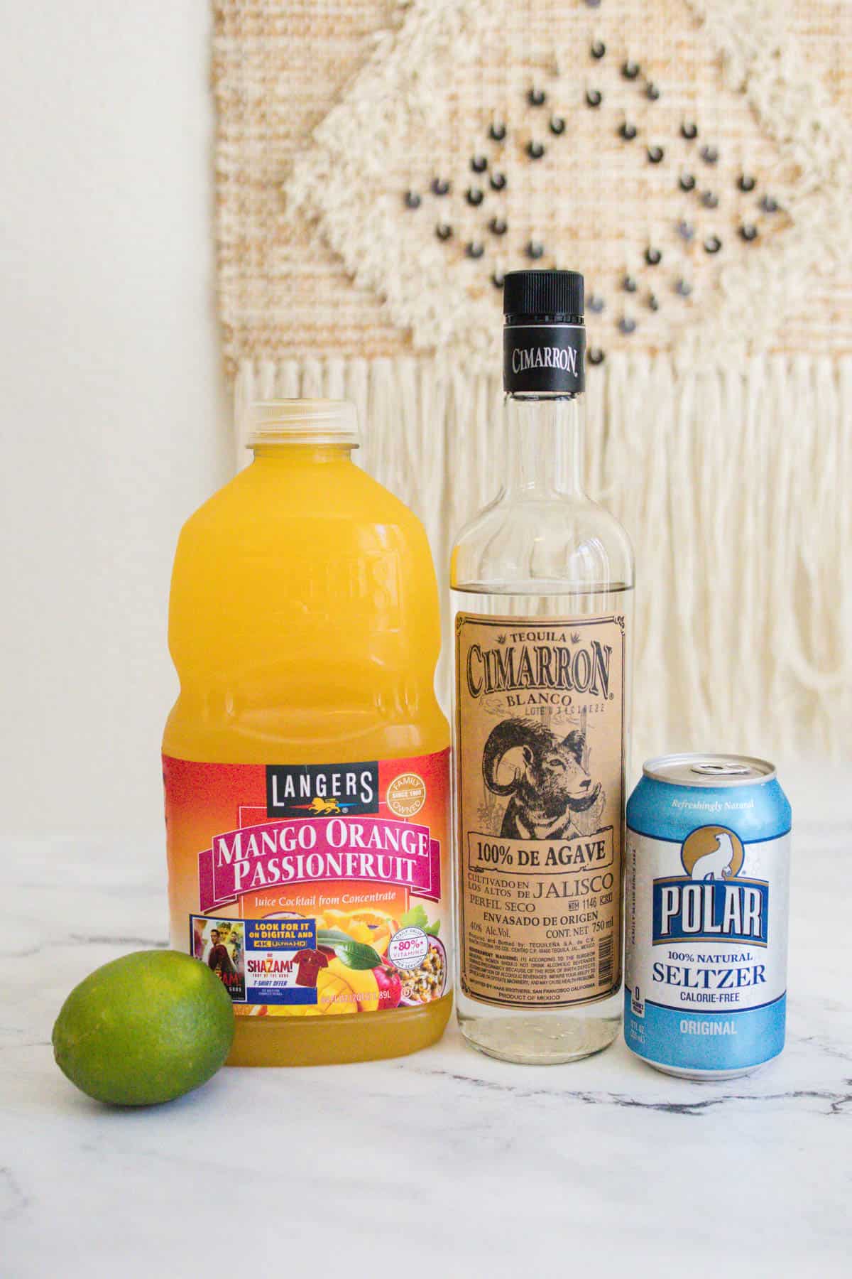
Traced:
<svg viewBox="0 0 852 1279">
<path fill-rule="evenodd" d="M 452 549 L 451 585 L 547 579 L 566 588 L 634 585 L 627 531 L 585 495 L 497 500 L 468 523 Z"/>
</svg>

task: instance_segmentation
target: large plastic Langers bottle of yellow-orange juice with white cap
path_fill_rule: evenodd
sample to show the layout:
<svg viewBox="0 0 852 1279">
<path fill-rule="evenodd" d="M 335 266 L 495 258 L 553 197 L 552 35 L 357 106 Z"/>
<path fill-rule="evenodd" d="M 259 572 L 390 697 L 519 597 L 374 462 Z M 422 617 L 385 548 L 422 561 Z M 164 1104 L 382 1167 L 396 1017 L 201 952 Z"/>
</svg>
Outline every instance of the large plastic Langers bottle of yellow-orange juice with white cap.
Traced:
<svg viewBox="0 0 852 1279">
<path fill-rule="evenodd" d="M 452 999 L 429 546 L 350 404 L 255 405 L 250 446 L 175 556 L 171 944 L 226 985 L 232 1065 L 413 1053 Z"/>
</svg>

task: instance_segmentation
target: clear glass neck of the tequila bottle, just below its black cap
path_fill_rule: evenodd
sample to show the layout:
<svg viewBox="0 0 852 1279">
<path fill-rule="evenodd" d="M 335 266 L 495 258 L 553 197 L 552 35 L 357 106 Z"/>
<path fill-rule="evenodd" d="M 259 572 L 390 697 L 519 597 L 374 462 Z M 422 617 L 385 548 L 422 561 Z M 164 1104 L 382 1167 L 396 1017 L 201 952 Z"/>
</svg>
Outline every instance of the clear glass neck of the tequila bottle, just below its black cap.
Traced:
<svg viewBox="0 0 852 1279">
<path fill-rule="evenodd" d="M 581 496 L 584 396 L 507 395 L 505 494 L 516 501 Z"/>
</svg>

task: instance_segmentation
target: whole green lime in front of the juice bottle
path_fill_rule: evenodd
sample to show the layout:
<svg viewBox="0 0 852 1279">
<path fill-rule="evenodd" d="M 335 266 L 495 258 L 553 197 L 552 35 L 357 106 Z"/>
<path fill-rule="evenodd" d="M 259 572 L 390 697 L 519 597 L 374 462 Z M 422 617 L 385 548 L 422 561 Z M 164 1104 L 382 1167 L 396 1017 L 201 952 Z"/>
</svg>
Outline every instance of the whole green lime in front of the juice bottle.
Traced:
<svg viewBox="0 0 852 1279">
<path fill-rule="evenodd" d="M 206 1083 L 232 1039 L 230 995 L 207 964 L 138 950 L 74 987 L 54 1026 L 54 1056 L 89 1097 L 151 1106 Z"/>
</svg>

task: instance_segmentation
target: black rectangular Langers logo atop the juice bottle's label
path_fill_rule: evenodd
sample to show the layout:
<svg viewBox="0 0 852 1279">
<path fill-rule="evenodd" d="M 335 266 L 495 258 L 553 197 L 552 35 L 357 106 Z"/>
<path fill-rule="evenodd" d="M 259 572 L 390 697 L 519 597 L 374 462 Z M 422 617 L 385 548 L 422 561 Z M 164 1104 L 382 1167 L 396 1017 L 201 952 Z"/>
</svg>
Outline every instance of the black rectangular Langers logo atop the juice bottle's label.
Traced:
<svg viewBox="0 0 852 1279">
<path fill-rule="evenodd" d="M 378 812 L 378 762 L 268 764 L 270 817 L 335 817 Z"/>
</svg>

